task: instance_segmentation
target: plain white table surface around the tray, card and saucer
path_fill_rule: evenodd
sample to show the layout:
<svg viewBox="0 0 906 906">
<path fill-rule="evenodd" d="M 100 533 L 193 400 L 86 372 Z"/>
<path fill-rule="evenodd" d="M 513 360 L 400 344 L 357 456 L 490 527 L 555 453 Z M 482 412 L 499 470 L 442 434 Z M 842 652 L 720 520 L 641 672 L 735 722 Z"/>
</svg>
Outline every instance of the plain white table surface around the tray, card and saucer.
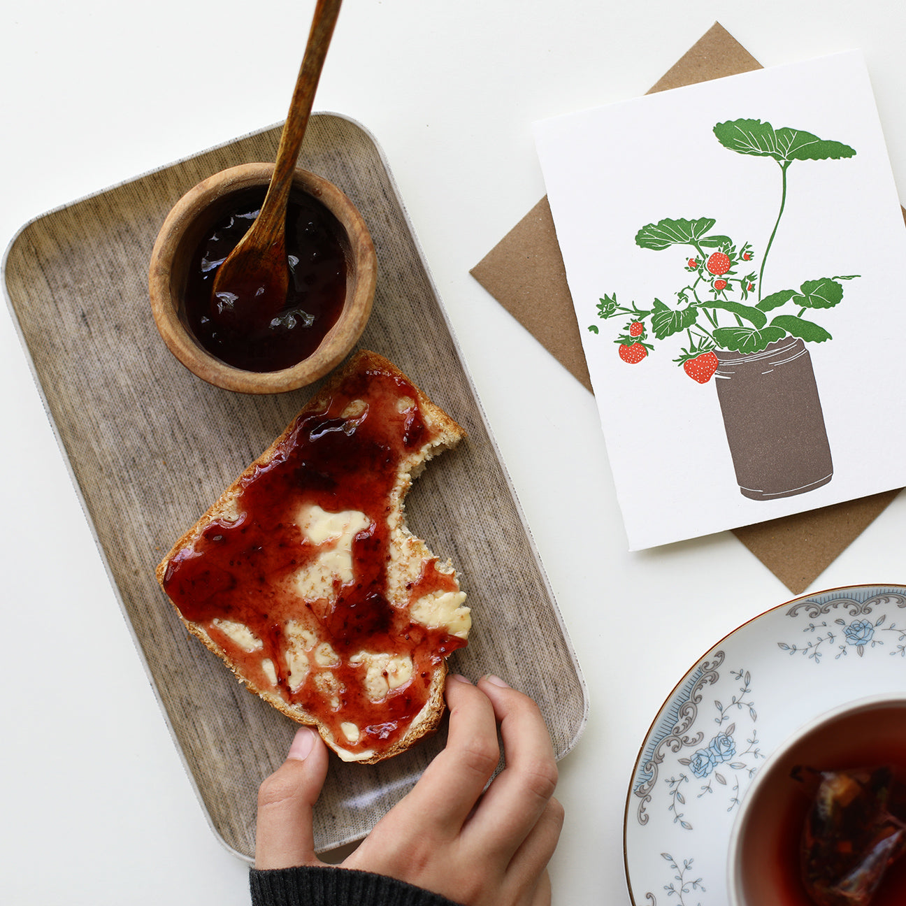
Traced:
<svg viewBox="0 0 906 906">
<path fill-rule="evenodd" d="M 0 9 L 5 247 L 53 207 L 283 120 L 313 2 Z M 792 595 L 729 533 L 627 553 L 592 396 L 468 270 L 545 192 L 531 123 L 647 91 L 716 20 L 765 65 L 862 48 L 906 198 L 901 0 L 347 0 L 315 104 L 386 153 L 591 690 L 562 763 L 557 903 L 629 901 L 622 816 L 651 719 L 714 642 Z M 247 903 L 5 307 L 0 388 L 0 901 Z M 901 495 L 812 590 L 906 583 L 904 529 Z"/>
</svg>

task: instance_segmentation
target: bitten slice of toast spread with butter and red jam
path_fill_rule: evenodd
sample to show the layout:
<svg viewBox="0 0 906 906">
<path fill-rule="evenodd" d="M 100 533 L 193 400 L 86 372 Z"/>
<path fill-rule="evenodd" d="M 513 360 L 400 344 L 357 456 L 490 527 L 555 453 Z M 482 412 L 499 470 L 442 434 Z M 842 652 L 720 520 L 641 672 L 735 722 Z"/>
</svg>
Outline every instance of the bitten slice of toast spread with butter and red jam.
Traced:
<svg viewBox="0 0 906 906">
<path fill-rule="evenodd" d="M 396 755 L 443 712 L 446 658 L 471 617 L 403 498 L 464 436 L 358 352 L 158 566 L 188 631 L 345 761 Z"/>
</svg>

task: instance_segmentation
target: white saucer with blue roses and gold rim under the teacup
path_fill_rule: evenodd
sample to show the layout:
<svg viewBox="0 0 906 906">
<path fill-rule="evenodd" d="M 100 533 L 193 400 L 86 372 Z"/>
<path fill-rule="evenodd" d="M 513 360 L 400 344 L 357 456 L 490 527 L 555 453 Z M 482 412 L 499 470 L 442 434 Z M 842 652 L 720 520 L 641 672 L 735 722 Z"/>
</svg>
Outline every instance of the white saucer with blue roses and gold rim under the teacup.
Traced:
<svg viewBox="0 0 906 906">
<path fill-rule="evenodd" d="M 906 587 L 812 594 L 731 632 L 660 708 L 623 830 L 635 906 L 726 906 L 730 829 L 758 768 L 830 708 L 906 688 Z"/>
</svg>

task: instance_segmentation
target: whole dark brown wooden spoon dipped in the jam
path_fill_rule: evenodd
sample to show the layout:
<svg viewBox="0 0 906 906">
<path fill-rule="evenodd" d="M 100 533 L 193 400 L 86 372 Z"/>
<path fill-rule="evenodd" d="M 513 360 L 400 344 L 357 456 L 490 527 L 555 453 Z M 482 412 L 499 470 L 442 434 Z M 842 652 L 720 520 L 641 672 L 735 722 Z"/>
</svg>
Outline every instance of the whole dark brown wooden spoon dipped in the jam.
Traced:
<svg viewBox="0 0 906 906">
<path fill-rule="evenodd" d="M 248 331 L 269 321 L 286 301 L 286 203 L 341 2 L 317 0 L 264 204 L 214 277 L 211 317 L 216 323 Z"/>
</svg>

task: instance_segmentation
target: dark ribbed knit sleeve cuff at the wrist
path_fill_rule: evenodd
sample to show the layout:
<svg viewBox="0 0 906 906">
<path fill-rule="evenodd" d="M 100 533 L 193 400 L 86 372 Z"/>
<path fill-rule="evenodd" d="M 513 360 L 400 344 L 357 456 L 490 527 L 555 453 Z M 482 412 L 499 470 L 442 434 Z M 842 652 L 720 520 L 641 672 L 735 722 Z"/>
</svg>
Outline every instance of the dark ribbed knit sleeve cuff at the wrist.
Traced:
<svg viewBox="0 0 906 906">
<path fill-rule="evenodd" d="M 458 906 L 382 874 L 333 866 L 253 868 L 248 882 L 252 906 Z"/>
</svg>

